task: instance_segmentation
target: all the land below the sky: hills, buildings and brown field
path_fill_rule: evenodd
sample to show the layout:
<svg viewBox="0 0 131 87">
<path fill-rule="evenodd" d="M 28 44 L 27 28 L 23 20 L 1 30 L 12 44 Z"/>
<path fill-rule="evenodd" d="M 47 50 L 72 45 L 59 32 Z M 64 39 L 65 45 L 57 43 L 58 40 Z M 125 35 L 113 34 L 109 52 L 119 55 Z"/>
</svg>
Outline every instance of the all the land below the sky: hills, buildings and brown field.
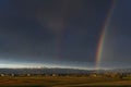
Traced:
<svg viewBox="0 0 131 87">
<path fill-rule="evenodd" d="M 130 87 L 129 72 L 127 73 L 127 70 L 1 69 L 0 87 Z"/>
</svg>

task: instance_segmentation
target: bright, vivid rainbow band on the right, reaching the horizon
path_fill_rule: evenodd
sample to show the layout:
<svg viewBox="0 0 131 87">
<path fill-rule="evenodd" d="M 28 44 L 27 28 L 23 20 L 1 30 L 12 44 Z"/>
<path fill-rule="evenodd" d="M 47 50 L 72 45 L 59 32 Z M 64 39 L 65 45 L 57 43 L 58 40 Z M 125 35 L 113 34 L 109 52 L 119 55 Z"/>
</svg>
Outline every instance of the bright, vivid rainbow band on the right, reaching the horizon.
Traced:
<svg viewBox="0 0 131 87">
<path fill-rule="evenodd" d="M 116 0 L 112 0 L 111 2 L 111 7 L 107 13 L 107 16 L 104 21 L 103 27 L 102 27 L 102 34 L 98 40 L 98 46 L 97 46 L 97 50 L 96 50 L 96 59 L 95 59 L 95 69 L 98 70 L 100 67 L 100 61 L 102 61 L 102 55 L 103 55 L 103 46 L 104 46 L 104 41 L 105 41 L 105 37 L 106 37 L 106 33 L 107 33 L 107 27 L 109 25 L 110 22 L 110 17 L 112 15 L 114 9 L 115 9 L 115 2 Z"/>
</svg>

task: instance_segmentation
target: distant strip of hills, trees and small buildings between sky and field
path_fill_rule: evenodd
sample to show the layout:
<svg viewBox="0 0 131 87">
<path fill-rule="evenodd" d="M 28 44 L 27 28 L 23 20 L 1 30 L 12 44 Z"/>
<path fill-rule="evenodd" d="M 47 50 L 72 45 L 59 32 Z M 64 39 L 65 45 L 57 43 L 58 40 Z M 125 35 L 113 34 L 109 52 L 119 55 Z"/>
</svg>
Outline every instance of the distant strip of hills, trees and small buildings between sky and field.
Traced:
<svg viewBox="0 0 131 87">
<path fill-rule="evenodd" d="M 119 77 L 131 76 L 131 69 L 76 70 L 76 69 L 0 69 L 0 76 L 76 76 L 76 77 Z"/>
</svg>

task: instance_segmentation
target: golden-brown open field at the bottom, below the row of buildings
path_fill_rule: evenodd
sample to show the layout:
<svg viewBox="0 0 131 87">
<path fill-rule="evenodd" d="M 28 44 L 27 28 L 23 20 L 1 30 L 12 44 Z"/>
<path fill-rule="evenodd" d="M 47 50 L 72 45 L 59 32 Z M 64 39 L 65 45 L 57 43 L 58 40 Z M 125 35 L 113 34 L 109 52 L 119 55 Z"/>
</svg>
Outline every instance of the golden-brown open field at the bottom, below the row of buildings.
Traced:
<svg viewBox="0 0 131 87">
<path fill-rule="evenodd" d="M 0 87 L 131 87 L 131 80 L 74 76 L 0 77 Z"/>
</svg>

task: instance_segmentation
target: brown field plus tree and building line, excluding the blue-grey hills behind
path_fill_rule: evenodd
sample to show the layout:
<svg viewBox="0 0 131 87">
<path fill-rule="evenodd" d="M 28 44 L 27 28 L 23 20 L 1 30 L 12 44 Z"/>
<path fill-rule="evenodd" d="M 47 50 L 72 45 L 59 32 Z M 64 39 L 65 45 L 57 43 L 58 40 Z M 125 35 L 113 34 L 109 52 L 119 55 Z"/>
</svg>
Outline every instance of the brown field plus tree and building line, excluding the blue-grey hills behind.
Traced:
<svg viewBox="0 0 131 87">
<path fill-rule="evenodd" d="M 131 87 L 130 74 L 2 75 L 0 87 Z"/>
</svg>

